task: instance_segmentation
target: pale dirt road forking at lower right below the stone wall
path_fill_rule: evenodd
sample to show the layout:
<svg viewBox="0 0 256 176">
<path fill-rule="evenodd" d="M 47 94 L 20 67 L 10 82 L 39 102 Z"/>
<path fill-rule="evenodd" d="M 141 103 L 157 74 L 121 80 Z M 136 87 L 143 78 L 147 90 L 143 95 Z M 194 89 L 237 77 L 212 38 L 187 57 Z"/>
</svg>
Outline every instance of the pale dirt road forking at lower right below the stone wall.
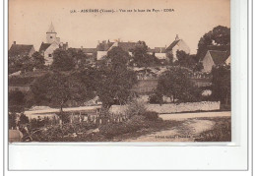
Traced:
<svg viewBox="0 0 256 176">
<path fill-rule="evenodd" d="M 204 117 L 204 119 L 203 119 Z M 161 114 L 163 120 L 184 121 L 180 126 L 169 130 L 154 132 L 125 142 L 194 142 L 195 138 L 207 130 L 211 130 L 215 122 L 206 118 L 230 117 L 230 112 L 199 112 L 180 114 Z"/>
</svg>

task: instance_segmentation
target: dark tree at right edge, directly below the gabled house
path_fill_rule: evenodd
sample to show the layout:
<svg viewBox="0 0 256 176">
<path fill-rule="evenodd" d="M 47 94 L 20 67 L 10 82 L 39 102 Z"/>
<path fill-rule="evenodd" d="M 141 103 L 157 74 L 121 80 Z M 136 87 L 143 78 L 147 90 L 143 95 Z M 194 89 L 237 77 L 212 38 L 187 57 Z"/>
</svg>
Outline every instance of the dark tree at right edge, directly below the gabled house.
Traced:
<svg viewBox="0 0 256 176">
<path fill-rule="evenodd" d="M 230 103 L 230 66 L 218 66 L 212 70 L 213 75 L 213 97 L 223 103 Z"/>
</svg>

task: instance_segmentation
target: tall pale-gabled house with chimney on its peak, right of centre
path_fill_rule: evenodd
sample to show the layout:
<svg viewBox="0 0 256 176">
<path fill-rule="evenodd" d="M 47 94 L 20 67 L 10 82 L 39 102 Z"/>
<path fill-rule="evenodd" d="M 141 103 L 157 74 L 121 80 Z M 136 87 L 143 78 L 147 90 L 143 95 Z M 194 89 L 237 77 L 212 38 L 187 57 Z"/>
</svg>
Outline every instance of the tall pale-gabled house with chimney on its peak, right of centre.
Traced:
<svg viewBox="0 0 256 176">
<path fill-rule="evenodd" d="M 180 39 L 178 35 L 176 35 L 175 40 L 166 48 L 166 53 L 170 53 L 173 55 L 173 61 L 177 60 L 176 52 L 177 51 L 184 51 L 185 53 L 190 53 L 189 46 L 185 43 L 183 39 Z"/>
</svg>

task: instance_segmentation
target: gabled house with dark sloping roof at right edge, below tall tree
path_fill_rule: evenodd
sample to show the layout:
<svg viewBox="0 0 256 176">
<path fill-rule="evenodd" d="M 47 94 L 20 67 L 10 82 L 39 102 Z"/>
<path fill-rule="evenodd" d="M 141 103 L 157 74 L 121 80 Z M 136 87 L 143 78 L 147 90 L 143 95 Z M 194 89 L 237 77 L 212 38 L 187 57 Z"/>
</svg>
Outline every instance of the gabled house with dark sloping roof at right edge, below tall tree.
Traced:
<svg viewBox="0 0 256 176">
<path fill-rule="evenodd" d="M 230 63 L 230 55 L 228 51 L 208 50 L 201 62 L 204 67 L 202 72 L 210 73 L 214 66 Z"/>
</svg>

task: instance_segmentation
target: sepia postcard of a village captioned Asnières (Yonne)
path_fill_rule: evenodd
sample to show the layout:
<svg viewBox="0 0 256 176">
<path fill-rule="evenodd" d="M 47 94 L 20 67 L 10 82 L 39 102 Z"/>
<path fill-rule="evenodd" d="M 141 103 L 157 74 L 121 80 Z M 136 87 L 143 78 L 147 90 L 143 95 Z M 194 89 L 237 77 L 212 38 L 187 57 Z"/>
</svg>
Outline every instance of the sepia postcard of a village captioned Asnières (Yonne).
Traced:
<svg viewBox="0 0 256 176">
<path fill-rule="evenodd" d="M 231 142 L 230 0 L 9 0 L 9 143 Z"/>
</svg>

